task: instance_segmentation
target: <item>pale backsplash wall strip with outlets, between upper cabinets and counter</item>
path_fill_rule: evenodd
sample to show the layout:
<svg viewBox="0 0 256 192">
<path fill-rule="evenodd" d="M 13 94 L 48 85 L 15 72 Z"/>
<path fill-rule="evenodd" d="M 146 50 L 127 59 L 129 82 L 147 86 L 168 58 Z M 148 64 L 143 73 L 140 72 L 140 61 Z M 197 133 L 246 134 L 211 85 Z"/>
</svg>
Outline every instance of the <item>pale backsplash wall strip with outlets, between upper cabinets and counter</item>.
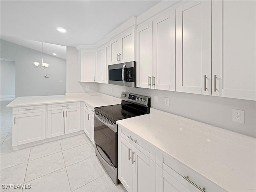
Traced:
<svg viewBox="0 0 256 192">
<path fill-rule="evenodd" d="M 99 84 L 99 92 L 104 94 L 120 97 L 122 91 L 150 96 L 152 108 L 256 138 L 255 101 Z M 158 103 L 154 96 L 158 96 Z M 169 98 L 169 107 L 164 106 L 164 97 Z M 232 121 L 232 109 L 245 111 L 245 124 Z"/>
</svg>

